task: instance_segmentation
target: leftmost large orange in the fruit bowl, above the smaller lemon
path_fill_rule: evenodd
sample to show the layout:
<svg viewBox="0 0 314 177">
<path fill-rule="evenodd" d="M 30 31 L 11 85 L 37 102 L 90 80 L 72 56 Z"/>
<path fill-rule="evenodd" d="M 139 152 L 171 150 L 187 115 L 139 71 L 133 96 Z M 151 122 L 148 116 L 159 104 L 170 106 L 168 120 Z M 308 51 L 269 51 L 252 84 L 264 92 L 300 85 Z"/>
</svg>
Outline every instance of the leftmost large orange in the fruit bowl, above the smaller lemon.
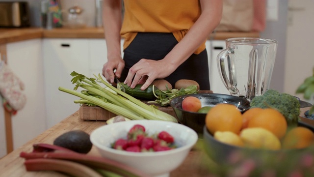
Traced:
<svg viewBox="0 0 314 177">
<path fill-rule="evenodd" d="M 209 110 L 205 123 L 212 135 L 216 131 L 231 131 L 239 134 L 242 127 L 242 115 L 235 105 L 221 103 Z"/>
</svg>

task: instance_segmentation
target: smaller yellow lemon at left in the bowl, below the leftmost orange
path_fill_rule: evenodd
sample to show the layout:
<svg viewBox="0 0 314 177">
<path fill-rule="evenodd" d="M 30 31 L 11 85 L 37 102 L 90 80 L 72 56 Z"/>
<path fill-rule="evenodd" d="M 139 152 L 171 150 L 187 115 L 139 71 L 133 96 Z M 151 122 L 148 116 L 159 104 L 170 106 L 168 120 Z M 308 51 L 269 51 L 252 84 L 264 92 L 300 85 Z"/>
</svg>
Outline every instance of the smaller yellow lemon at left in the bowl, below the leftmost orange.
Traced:
<svg viewBox="0 0 314 177">
<path fill-rule="evenodd" d="M 243 147 L 244 143 L 241 138 L 231 131 L 216 131 L 214 138 L 222 143 Z"/>
</svg>

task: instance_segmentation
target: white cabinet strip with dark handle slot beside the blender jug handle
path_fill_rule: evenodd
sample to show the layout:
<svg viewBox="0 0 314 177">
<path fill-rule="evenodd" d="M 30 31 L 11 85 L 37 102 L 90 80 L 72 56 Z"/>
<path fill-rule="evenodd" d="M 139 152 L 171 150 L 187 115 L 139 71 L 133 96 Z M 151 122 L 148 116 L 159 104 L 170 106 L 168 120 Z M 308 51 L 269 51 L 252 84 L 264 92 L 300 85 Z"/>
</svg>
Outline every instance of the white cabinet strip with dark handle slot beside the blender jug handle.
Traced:
<svg viewBox="0 0 314 177">
<path fill-rule="evenodd" d="M 224 40 L 208 40 L 206 49 L 209 55 L 209 80 L 210 89 L 214 93 L 230 94 L 228 89 L 224 86 L 218 72 L 217 56 L 223 50 L 226 49 Z"/>
</svg>

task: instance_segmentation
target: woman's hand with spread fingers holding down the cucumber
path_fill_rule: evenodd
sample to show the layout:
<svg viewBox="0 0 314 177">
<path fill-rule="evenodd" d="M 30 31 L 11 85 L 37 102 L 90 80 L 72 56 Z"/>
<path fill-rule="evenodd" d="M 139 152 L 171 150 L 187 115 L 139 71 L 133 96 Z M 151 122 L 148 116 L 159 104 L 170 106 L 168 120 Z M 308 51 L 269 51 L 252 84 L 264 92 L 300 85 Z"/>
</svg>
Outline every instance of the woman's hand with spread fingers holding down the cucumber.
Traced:
<svg viewBox="0 0 314 177">
<path fill-rule="evenodd" d="M 155 79 L 162 79 L 169 76 L 177 67 L 164 59 L 152 60 L 141 59 L 134 64 L 124 81 L 129 87 L 134 88 L 137 84 L 143 84 L 141 90 L 148 88 Z"/>
</svg>

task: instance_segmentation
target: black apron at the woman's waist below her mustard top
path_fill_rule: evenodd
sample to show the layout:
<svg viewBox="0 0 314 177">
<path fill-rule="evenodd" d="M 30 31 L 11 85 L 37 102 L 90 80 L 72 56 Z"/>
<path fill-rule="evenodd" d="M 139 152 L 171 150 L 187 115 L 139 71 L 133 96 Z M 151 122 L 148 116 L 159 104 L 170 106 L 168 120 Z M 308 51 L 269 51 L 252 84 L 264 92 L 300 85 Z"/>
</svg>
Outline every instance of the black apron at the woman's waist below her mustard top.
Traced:
<svg viewBox="0 0 314 177">
<path fill-rule="evenodd" d="M 129 69 L 140 59 L 163 59 L 178 44 L 172 33 L 138 33 L 124 50 L 125 68 L 121 75 L 124 81 Z M 171 75 L 164 78 L 172 87 L 180 79 L 194 80 L 201 90 L 210 90 L 209 67 L 206 49 L 200 54 L 192 54 Z"/>
</svg>

